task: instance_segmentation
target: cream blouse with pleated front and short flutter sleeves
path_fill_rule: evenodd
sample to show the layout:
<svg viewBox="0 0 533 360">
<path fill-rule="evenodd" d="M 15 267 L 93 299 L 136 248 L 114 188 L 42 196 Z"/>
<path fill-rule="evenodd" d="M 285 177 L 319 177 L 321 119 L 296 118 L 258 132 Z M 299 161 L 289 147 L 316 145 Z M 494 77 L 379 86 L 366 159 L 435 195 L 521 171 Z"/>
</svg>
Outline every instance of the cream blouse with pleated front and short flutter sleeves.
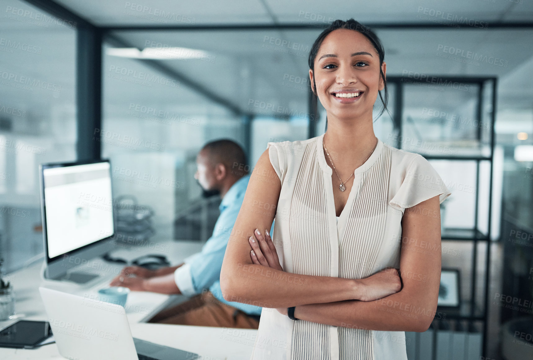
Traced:
<svg viewBox="0 0 533 360">
<path fill-rule="evenodd" d="M 337 223 L 323 137 L 267 145 L 281 181 L 272 234 L 281 266 L 288 273 L 349 279 L 399 268 L 403 211 L 436 195 L 442 202 L 450 192 L 424 157 L 378 140 L 354 171 Z M 252 359 L 407 360 L 405 333 L 292 321 L 263 308 Z"/>
</svg>

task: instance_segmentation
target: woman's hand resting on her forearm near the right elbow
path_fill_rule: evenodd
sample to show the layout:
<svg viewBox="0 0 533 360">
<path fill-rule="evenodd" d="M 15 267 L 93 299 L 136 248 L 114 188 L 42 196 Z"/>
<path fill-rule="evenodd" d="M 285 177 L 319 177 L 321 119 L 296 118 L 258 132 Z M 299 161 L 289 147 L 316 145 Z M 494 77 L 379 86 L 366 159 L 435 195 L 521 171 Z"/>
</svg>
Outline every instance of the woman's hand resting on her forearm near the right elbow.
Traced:
<svg viewBox="0 0 533 360">
<path fill-rule="evenodd" d="M 373 301 L 397 293 L 401 290 L 401 279 L 398 270 L 387 267 L 382 271 L 358 280 L 360 285 L 359 299 Z"/>
</svg>

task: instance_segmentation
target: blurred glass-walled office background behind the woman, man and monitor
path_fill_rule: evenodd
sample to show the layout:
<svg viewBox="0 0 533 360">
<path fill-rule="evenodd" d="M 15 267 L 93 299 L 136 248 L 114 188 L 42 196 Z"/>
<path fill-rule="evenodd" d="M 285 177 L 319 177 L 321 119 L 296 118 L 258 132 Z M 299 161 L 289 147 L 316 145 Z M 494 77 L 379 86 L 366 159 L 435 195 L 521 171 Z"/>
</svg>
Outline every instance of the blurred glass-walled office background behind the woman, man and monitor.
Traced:
<svg viewBox="0 0 533 360">
<path fill-rule="evenodd" d="M 525 0 L 1 0 L 4 271 L 42 257 L 45 162 L 109 158 L 114 195 L 154 209 L 152 238 L 205 241 L 220 198 L 204 197 L 193 178 L 198 150 L 231 138 L 253 167 L 269 141 L 322 134 L 308 54 L 327 23 L 351 17 L 385 47 L 390 113 L 376 119 L 376 136 L 422 153 L 453 193 L 441 209 L 442 266 L 458 273 L 459 304 L 442 309 L 433 330 L 449 331 L 450 348 L 454 331 L 479 332 L 484 356 L 525 358 L 513 357 L 533 346 L 531 325 L 519 322 L 533 312 L 533 4 Z M 505 324 L 529 341 L 510 347 L 517 339 Z M 427 339 L 436 358 L 459 358 L 434 334 Z M 422 343 L 417 335 L 408 345 L 410 360 L 424 358 Z"/>
</svg>

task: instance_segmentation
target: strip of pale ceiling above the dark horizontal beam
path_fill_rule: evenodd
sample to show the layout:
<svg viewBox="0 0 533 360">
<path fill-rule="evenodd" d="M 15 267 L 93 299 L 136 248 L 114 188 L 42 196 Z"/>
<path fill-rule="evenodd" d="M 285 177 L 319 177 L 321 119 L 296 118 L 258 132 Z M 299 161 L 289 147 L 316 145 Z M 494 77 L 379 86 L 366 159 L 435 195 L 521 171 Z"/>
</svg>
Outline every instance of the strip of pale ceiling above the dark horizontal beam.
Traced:
<svg viewBox="0 0 533 360">
<path fill-rule="evenodd" d="M 104 25 L 172 25 L 323 22 L 353 17 L 360 22 L 417 22 L 419 7 L 476 20 L 531 21 L 533 4 L 503 0 L 349 1 L 323 0 L 57 0 L 91 22 Z M 161 14 L 168 14 L 165 17 Z M 183 19 L 185 18 L 185 19 Z M 436 17 L 439 18 L 439 17 Z M 331 19 L 331 20 L 330 20 Z M 430 20 L 431 21 L 431 20 Z"/>
</svg>

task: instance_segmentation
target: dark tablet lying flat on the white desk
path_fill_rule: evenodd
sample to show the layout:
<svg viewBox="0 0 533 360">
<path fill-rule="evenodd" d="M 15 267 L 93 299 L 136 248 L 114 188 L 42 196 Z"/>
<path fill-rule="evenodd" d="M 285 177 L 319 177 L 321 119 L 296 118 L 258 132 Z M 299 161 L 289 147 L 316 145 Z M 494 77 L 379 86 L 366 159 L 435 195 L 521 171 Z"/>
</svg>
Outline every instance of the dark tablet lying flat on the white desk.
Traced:
<svg viewBox="0 0 533 360">
<path fill-rule="evenodd" d="M 19 320 L 0 331 L 0 347 L 31 348 L 51 336 L 47 321 Z"/>
</svg>

